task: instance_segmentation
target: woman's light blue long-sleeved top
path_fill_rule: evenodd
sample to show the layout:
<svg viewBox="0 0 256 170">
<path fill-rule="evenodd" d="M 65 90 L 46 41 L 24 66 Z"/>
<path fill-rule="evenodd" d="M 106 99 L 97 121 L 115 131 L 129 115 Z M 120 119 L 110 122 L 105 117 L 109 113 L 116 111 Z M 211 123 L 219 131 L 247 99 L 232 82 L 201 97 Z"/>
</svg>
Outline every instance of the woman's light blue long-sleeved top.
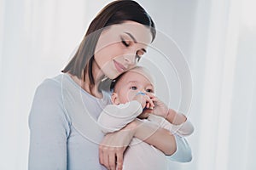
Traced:
<svg viewBox="0 0 256 170">
<path fill-rule="evenodd" d="M 97 118 L 111 104 L 108 93 L 96 99 L 67 74 L 44 80 L 35 93 L 29 116 L 30 170 L 100 170 L 98 147 L 104 133 Z M 191 161 L 186 139 L 176 137 L 172 161 Z"/>
</svg>

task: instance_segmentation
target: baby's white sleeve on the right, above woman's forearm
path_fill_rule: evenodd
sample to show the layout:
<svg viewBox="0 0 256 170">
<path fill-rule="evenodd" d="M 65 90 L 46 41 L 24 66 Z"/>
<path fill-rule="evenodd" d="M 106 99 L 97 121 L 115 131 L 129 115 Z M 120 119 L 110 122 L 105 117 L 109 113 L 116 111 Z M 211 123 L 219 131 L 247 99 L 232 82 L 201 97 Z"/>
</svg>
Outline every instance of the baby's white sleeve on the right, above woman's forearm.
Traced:
<svg viewBox="0 0 256 170">
<path fill-rule="evenodd" d="M 160 127 L 166 128 L 171 133 L 177 133 L 177 135 L 180 136 L 189 136 L 194 132 L 194 126 L 191 122 L 189 122 L 189 120 L 183 122 L 180 125 L 174 125 L 171 122 L 166 121 L 164 117 L 156 116 L 153 114 L 148 116 L 148 120 L 151 122 L 156 122 Z"/>
</svg>

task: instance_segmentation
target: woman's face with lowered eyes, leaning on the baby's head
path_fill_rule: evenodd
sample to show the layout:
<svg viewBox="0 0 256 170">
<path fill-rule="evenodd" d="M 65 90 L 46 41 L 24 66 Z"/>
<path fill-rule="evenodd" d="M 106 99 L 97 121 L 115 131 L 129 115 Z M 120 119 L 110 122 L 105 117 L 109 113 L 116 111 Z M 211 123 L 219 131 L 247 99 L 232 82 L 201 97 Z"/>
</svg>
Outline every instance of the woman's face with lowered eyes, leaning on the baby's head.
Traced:
<svg viewBox="0 0 256 170">
<path fill-rule="evenodd" d="M 96 44 L 96 65 L 108 78 L 116 78 L 137 65 L 151 40 L 151 31 L 137 22 L 109 26 Z"/>
</svg>

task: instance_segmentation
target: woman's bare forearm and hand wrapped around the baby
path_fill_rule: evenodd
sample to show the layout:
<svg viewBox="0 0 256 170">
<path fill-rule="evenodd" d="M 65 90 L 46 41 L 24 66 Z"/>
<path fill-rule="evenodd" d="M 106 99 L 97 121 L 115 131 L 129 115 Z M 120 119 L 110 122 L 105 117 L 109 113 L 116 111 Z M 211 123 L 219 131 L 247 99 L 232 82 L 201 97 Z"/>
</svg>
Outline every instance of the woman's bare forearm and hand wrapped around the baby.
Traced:
<svg viewBox="0 0 256 170">
<path fill-rule="evenodd" d="M 154 145 L 166 155 L 172 155 L 176 151 L 172 133 L 154 123 L 136 119 L 118 132 L 108 133 L 104 137 L 99 147 L 101 164 L 108 169 L 122 169 L 124 151 L 133 137 Z"/>
</svg>

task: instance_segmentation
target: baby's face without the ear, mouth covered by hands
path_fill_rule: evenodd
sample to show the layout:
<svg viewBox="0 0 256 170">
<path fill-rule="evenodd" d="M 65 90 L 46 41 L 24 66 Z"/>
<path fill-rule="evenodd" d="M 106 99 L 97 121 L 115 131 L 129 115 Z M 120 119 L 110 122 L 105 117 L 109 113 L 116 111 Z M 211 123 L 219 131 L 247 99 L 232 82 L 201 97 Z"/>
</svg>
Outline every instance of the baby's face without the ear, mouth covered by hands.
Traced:
<svg viewBox="0 0 256 170">
<path fill-rule="evenodd" d="M 128 71 L 115 85 L 115 93 L 118 94 L 120 104 L 131 101 L 139 92 L 154 93 L 154 84 L 143 71 Z"/>
</svg>

